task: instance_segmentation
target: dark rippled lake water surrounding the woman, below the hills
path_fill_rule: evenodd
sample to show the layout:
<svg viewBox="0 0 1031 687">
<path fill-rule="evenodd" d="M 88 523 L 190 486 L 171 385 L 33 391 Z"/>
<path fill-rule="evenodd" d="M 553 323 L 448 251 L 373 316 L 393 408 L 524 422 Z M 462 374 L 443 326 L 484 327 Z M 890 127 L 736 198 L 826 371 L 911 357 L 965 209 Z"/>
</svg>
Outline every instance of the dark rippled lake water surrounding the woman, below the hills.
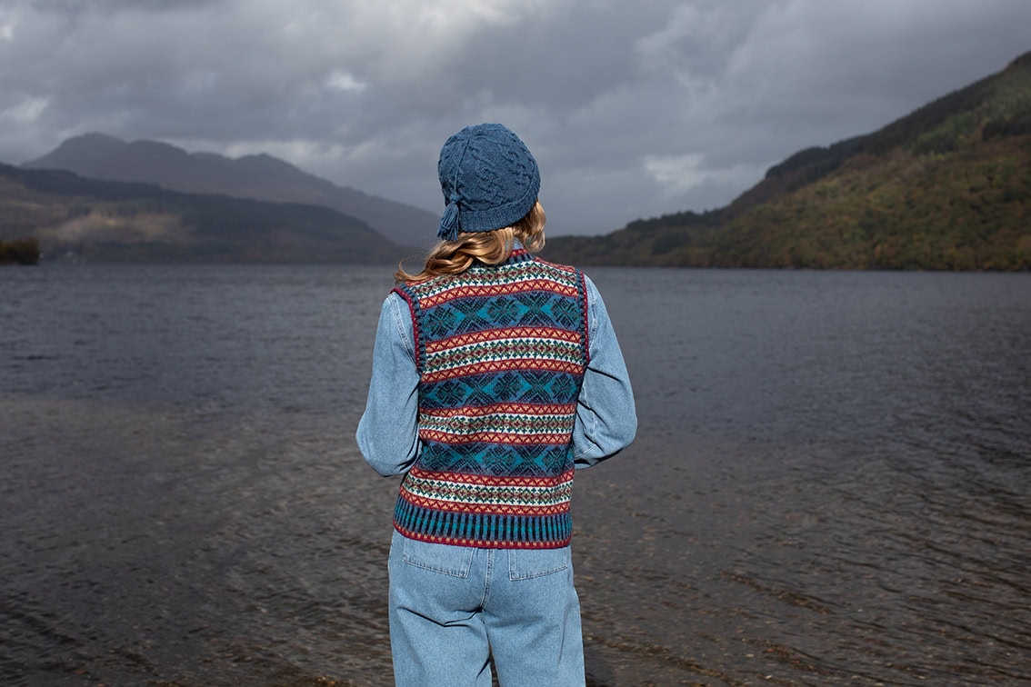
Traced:
<svg viewBox="0 0 1031 687">
<path fill-rule="evenodd" d="M 390 267 L 0 270 L 0 683 L 390 684 Z M 593 268 L 593 685 L 1031 681 L 1031 274 Z"/>
</svg>

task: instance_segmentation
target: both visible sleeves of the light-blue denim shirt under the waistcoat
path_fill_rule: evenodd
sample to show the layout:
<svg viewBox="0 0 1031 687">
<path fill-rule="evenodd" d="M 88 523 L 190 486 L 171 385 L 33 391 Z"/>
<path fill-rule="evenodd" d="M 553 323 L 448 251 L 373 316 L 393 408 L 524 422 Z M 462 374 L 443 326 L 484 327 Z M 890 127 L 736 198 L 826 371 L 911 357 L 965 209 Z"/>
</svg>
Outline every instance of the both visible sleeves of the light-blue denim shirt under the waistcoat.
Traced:
<svg viewBox="0 0 1031 687">
<path fill-rule="evenodd" d="M 630 445 L 637 413 L 623 351 L 594 282 L 585 275 L 590 363 L 576 402 L 575 467 L 589 468 Z M 408 305 L 391 293 L 379 311 L 372 379 L 358 423 L 358 447 L 380 475 L 402 475 L 419 456 L 419 373 Z"/>
</svg>

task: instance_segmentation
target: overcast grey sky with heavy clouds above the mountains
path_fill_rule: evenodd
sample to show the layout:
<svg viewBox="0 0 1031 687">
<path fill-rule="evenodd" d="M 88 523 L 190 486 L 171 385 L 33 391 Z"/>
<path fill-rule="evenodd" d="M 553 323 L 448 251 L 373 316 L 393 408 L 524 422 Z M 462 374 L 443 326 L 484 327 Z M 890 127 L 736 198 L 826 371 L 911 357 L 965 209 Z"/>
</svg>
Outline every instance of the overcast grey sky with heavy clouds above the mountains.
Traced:
<svg viewBox="0 0 1031 687">
<path fill-rule="evenodd" d="M 0 162 L 102 132 L 433 212 L 501 122 L 554 235 L 727 204 L 1031 50 L 1029 0 L 0 0 Z"/>
</svg>

